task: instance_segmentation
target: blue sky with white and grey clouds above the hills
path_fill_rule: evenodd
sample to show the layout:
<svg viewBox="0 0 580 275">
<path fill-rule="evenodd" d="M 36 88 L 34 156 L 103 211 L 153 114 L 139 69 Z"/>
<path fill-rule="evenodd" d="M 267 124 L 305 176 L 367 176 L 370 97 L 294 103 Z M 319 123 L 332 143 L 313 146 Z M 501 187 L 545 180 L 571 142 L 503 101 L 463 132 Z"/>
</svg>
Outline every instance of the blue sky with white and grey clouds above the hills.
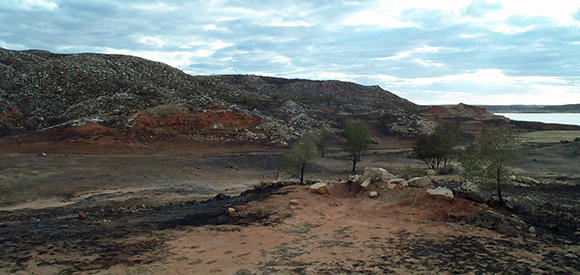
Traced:
<svg viewBox="0 0 580 275">
<path fill-rule="evenodd" d="M 2 0 L 0 47 L 352 81 L 418 104 L 580 103 L 578 0 Z"/>
</svg>

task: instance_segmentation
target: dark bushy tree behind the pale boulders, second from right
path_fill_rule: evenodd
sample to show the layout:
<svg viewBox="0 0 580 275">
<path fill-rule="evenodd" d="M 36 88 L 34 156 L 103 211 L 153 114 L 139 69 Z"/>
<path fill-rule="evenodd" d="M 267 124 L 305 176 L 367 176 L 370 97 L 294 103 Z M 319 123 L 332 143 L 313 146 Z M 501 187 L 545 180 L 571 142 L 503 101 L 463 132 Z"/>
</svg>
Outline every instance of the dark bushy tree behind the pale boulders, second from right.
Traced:
<svg viewBox="0 0 580 275">
<path fill-rule="evenodd" d="M 441 164 L 446 166 L 454 156 L 454 147 L 461 136 L 459 122 L 445 122 L 437 125 L 431 134 L 417 137 L 413 144 L 413 153 L 433 170 Z"/>
</svg>

